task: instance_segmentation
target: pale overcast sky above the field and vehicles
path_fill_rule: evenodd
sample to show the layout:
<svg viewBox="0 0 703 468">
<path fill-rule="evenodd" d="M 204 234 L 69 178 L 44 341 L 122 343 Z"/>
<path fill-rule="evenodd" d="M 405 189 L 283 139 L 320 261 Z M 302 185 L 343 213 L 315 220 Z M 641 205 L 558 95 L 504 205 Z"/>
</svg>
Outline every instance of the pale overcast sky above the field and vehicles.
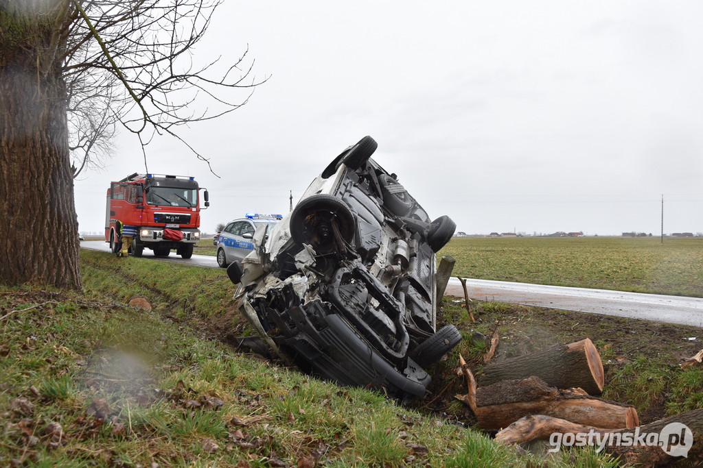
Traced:
<svg viewBox="0 0 703 468">
<path fill-rule="evenodd" d="M 288 212 L 364 135 L 431 218 L 467 233 L 703 232 L 703 3 L 699 1 L 233 1 L 198 60 L 249 46 L 247 105 L 194 126 L 210 174 L 176 142 L 149 170 L 194 175 L 201 229 Z M 104 227 L 117 157 L 76 182 L 79 229 Z"/>
</svg>

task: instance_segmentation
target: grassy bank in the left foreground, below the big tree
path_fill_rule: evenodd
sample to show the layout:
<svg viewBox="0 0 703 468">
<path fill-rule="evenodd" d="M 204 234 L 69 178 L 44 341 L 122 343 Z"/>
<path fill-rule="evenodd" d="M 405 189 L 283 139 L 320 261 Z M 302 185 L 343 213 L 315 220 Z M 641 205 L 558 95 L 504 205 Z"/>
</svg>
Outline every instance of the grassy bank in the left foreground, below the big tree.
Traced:
<svg viewBox="0 0 703 468">
<path fill-rule="evenodd" d="M 82 266 L 83 294 L 0 288 L 0 465 L 614 466 L 588 450 L 539 461 L 207 339 L 231 309 L 220 270 L 90 251 Z"/>
</svg>

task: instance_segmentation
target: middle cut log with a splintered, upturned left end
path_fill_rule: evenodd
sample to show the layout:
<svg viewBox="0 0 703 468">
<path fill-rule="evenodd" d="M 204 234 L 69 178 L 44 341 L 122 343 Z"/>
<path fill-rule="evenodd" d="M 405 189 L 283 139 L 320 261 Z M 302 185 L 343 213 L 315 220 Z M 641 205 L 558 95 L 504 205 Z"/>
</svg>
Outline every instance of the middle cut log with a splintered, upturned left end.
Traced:
<svg viewBox="0 0 703 468">
<path fill-rule="evenodd" d="M 468 394 L 456 398 L 471 408 L 482 429 L 503 429 L 526 415 L 536 414 L 606 429 L 639 424 L 637 410 L 631 406 L 588 396 L 581 389 L 549 387 L 534 376 L 477 388 L 474 376 L 461 356 L 460 363 Z"/>
</svg>

